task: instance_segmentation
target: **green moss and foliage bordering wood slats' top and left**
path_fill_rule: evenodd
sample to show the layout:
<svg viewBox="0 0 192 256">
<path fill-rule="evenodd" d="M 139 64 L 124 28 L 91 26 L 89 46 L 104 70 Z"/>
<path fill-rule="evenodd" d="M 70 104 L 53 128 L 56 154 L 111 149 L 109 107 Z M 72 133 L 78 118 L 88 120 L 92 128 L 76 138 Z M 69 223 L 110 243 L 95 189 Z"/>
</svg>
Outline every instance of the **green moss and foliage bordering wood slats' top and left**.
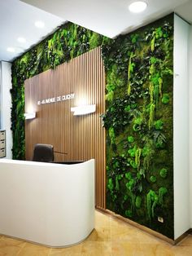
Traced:
<svg viewBox="0 0 192 256">
<path fill-rule="evenodd" d="M 24 80 L 111 42 L 111 39 L 68 22 L 12 64 L 13 158 L 24 159 Z"/>
</svg>

